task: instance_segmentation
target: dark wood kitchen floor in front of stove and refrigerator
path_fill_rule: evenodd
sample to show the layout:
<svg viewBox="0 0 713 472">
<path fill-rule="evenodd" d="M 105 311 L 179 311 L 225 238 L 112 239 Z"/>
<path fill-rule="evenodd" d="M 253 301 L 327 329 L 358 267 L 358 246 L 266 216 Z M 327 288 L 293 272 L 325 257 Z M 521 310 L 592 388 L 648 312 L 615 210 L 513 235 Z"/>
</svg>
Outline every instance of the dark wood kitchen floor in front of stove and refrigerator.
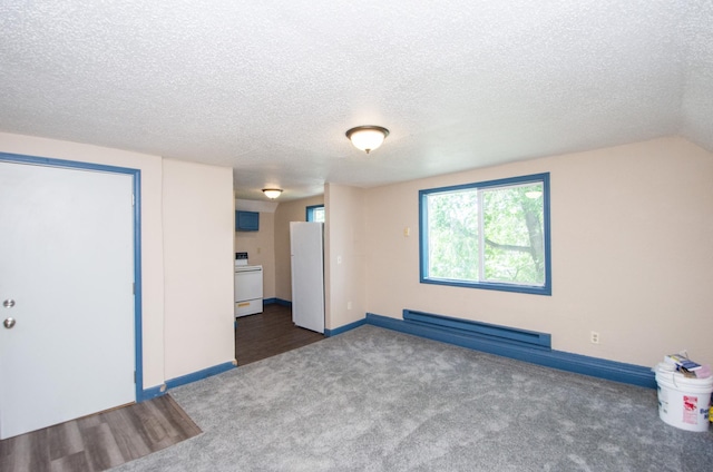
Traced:
<svg viewBox="0 0 713 472">
<path fill-rule="evenodd" d="M 265 305 L 263 313 L 241 316 L 236 323 L 235 358 L 238 366 L 324 338 L 323 334 L 295 326 L 292 309 L 276 303 Z"/>
</svg>

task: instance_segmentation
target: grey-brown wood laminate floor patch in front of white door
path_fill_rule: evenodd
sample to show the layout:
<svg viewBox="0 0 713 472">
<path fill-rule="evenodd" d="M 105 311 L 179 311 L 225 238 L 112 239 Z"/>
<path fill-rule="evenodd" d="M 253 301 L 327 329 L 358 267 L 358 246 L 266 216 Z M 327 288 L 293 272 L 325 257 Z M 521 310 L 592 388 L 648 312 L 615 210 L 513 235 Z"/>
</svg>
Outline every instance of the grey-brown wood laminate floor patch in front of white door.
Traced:
<svg viewBox="0 0 713 472">
<path fill-rule="evenodd" d="M 0 441 L 2 472 L 102 471 L 201 434 L 170 395 Z"/>
</svg>

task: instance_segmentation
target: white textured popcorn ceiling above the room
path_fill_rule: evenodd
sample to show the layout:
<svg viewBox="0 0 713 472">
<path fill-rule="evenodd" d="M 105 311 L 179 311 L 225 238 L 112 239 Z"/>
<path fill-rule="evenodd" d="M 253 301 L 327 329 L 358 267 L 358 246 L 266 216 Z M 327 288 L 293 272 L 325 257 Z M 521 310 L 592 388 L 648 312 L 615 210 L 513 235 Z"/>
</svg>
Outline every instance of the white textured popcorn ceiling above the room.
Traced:
<svg viewBox="0 0 713 472">
<path fill-rule="evenodd" d="M 367 156 L 358 125 L 391 134 Z M 229 166 L 243 199 L 713 150 L 713 1 L 4 0 L 0 130 Z"/>
</svg>

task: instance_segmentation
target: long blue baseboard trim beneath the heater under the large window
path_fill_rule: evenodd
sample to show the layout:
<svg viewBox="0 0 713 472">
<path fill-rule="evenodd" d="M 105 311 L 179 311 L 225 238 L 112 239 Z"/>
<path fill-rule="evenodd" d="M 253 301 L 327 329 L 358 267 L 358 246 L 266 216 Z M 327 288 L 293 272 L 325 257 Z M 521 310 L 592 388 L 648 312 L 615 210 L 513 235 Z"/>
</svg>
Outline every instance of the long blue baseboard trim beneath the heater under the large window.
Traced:
<svg viewBox="0 0 713 472">
<path fill-rule="evenodd" d="M 553 367 L 593 377 L 656 389 L 656 378 L 654 373 L 651 371 L 651 367 L 625 364 L 561 351 L 544 350 L 541 347 L 528 347 L 498 340 L 487 340 L 481 336 L 473 336 L 467 331 L 456 332 L 453 328 L 427 326 L 422 323 L 391 318 L 388 316 L 375 315 L 373 313 L 367 313 L 365 322 L 367 324 L 387 330 L 529 362 L 545 367 Z"/>
</svg>

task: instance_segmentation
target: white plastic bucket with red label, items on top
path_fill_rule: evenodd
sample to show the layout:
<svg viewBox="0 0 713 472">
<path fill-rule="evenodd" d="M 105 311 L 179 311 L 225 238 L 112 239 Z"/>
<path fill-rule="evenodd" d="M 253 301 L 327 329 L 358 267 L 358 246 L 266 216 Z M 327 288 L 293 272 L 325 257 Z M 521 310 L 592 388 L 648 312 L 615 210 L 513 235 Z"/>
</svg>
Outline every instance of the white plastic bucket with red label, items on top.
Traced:
<svg viewBox="0 0 713 472">
<path fill-rule="evenodd" d="M 688 378 L 664 363 L 655 371 L 658 416 L 664 423 L 686 431 L 707 431 L 713 376 Z"/>
</svg>

